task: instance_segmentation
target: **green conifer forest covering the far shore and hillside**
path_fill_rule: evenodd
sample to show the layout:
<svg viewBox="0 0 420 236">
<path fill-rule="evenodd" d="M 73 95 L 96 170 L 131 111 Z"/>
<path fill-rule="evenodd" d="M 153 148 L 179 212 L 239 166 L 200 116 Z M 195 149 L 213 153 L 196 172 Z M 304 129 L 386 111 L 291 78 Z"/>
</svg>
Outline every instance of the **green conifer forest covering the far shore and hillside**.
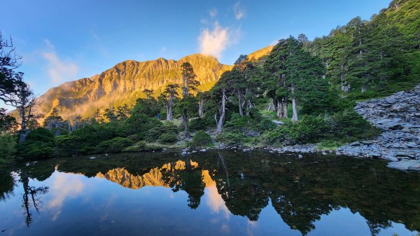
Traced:
<svg viewBox="0 0 420 236">
<path fill-rule="evenodd" d="M 289 146 L 335 148 L 379 134 L 357 101 L 420 83 L 420 5 L 394 0 L 370 20 L 353 18 L 328 36 L 281 39 L 269 55 L 240 55 L 211 90 L 200 92 L 194 68 L 159 97 L 144 90 L 135 104 L 64 120 L 57 109 L 36 115 L 36 96 L 17 72 L 20 57 L 0 41 L 0 165 L 19 158 L 155 151 L 162 148 Z M 37 120 L 42 118 L 43 122 Z"/>
</svg>

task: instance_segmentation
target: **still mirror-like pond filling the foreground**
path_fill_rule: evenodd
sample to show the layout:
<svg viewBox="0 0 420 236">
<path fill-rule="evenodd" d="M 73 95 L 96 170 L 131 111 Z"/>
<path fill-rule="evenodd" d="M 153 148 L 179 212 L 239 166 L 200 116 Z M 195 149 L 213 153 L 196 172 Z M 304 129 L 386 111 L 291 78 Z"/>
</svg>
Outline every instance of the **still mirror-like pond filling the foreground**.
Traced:
<svg viewBox="0 0 420 236">
<path fill-rule="evenodd" d="M 381 160 L 207 152 L 25 163 L 0 235 L 416 235 L 420 173 Z"/>
</svg>

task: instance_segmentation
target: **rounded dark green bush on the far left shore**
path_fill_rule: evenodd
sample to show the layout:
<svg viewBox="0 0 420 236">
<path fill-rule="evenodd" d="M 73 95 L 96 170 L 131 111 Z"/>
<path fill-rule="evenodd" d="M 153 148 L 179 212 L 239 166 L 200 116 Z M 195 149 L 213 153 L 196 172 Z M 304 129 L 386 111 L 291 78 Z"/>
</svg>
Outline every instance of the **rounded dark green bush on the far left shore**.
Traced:
<svg viewBox="0 0 420 236">
<path fill-rule="evenodd" d="M 27 139 L 17 146 L 18 155 L 22 158 L 50 158 L 54 151 L 54 136 L 45 128 L 29 132 Z"/>
</svg>

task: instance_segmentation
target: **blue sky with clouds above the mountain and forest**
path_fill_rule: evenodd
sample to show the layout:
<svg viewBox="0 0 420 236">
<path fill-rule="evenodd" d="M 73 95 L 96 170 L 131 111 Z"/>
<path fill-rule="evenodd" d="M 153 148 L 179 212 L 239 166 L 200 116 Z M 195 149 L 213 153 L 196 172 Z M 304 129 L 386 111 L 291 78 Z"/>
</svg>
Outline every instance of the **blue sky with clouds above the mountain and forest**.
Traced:
<svg viewBox="0 0 420 236">
<path fill-rule="evenodd" d="M 290 35 L 309 39 L 386 8 L 390 0 L 1 0 L 0 32 L 22 56 L 37 95 L 125 60 L 194 53 L 233 64 Z"/>
</svg>

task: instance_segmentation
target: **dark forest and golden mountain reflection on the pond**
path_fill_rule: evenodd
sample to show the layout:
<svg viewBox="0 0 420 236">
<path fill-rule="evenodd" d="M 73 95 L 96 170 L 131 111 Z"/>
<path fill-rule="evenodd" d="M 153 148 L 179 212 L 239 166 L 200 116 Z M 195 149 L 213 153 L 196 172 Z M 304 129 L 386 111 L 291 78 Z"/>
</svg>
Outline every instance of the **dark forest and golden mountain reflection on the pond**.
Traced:
<svg viewBox="0 0 420 236">
<path fill-rule="evenodd" d="M 47 164 L 45 169 L 53 166 Z M 172 153 L 123 153 L 97 160 L 61 160 L 58 170 L 101 177 L 126 188 L 182 190 L 188 193 L 188 206 L 193 209 L 208 188 L 213 198 L 205 204 L 212 211 L 246 216 L 251 221 L 257 221 L 271 202 L 283 221 L 304 235 L 321 216 L 339 208 L 363 216 L 372 235 L 391 222 L 420 230 L 420 173 L 397 172 L 378 160 L 306 155 L 297 160 L 270 153 L 251 156 L 211 151 L 191 159 Z M 33 174 L 39 178 L 48 175 Z"/>
</svg>

